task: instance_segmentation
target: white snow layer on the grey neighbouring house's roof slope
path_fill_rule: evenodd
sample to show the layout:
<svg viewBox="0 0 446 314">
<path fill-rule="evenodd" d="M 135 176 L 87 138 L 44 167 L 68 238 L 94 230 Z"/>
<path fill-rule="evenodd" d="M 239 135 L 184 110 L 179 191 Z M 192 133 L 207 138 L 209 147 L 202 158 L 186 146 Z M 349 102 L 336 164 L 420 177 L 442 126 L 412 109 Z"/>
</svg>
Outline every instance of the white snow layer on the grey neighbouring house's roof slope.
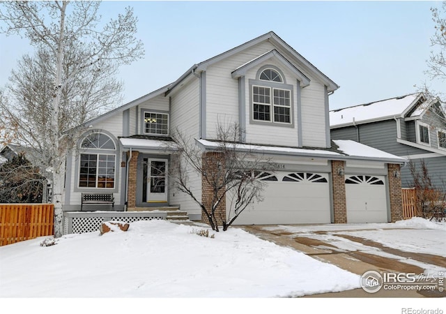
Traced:
<svg viewBox="0 0 446 314">
<path fill-rule="evenodd" d="M 330 111 L 330 127 L 401 117 L 420 93 Z"/>
</svg>

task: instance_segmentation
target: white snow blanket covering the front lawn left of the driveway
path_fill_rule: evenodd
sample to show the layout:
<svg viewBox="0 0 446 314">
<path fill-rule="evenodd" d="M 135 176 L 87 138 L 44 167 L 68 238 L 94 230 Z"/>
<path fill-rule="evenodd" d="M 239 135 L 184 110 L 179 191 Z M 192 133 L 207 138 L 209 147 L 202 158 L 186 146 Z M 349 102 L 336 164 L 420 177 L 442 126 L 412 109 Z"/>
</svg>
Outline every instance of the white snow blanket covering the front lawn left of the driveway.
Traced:
<svg viewBox="0 0 446 314">
<path fill-rule="evenodd" d="M 0 247 L 0 297 L 296 297 L 360 287 L 360 276 L 238 228 L 164 220 L 128 232 L 69 234 Z"/>
</svg>

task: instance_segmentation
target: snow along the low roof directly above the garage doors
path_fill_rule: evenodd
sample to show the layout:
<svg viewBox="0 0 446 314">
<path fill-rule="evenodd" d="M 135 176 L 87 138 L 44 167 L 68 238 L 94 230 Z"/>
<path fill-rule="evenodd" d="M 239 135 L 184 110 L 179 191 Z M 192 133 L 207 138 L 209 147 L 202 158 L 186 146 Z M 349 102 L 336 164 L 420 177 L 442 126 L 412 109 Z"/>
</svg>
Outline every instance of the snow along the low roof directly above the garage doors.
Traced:
<svg viewBox="0 0 446 314">
<path fill-rule="evenodd" d="M 208 140 L 196 140 L 202 147 L 206 149 L 217 149 L 220 147 L 220 142 L 211 142 Z M 275 147 L 263 146 L 256 144 L 235 144 L 236 149 L 240 151 L 259 151 L 265 154 L 284 154 L 295 156 L 316 156 L 323 158 L 339 158 L 343 159 L 365 159 L 365 160 L 380 160 L 383 162 L 404 163 L 406 158 L 395 156 L 379 149 L 374 149 L 364 144 L 352 140 L 334 140 L 334 144 L 339 147 L 337 151 L 326 149 L 304 149 L 295 147 Z"/>
</svg>

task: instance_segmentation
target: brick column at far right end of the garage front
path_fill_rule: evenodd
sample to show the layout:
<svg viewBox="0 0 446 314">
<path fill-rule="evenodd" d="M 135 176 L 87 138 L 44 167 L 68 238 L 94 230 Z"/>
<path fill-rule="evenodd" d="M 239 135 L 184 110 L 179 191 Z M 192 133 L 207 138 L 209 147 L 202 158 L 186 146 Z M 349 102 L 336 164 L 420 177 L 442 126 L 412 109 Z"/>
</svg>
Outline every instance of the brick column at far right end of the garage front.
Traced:
<svg viewBox="0 0 446 314">
<path fill-rule="evenodd" d="M 401 191 L 400 165 L 387 164 L 387 178 L 389 179 L 390 220 L 394 223 L 403 219 L 403 197 Z"/>
</svg>

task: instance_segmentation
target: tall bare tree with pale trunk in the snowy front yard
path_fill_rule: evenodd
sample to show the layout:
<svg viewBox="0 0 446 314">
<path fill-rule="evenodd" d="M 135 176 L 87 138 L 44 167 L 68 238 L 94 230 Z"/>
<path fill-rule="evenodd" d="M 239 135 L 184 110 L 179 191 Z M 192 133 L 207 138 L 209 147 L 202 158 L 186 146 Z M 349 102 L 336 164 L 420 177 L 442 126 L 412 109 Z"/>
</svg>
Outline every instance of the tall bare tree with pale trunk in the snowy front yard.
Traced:
<svg viewBox="0 0 446 314">
<path fill-rule="evenodd" d="M 96 1 L 4 1 L 0 7 L 2 31 L 8 35 L 24 35 L 38 49 L 35 59 L 40 63 L 35 71 L 20 68 L 13 73 L 10 92 L 14 101 L 6 102 L 8 123 L 19 129 L 19 140 L 37 147 L 52 168 L 54 235 L 62 235 L 63 179 L 67 151 L 75 142 L 76 134 L 66 133 L 73 124 L 79 124 L 97 114 L 100 106 L 119 87 L 107 77 L 116 74 L 118 66 L 141 58 L 144 54 L 132 9 L 126 8 L 116 20 L 102 23 Z M 31 57 L 22 59 L 22 66 Z M 39 70 L 45 68 L 45 73 Z M 22 75 L 36 75 L 27 84 Z M 42 77 L 42 75 L 46 75 Z M 43 80 L 39 87 L 36 80 Z M 93 84 L 94 82 L 95 84 Z M 103 89 L 101 89 L 101 87 Z M 29 90 L 31 88 L 31 90 Z M 26 94 L 27 93 L 27 94 Z M 17 105 L 26 94 L 27 106 L 36 106 L 36 121 L 41 128 L 26 124 L 23 113 L 11 106 Z M 27 107 L 27 108 L 31 108 Z M 26 117 L 26 119 L 33 119 Z M 43 147 L 42 147 L 43 146 Z"/>
</svg>

